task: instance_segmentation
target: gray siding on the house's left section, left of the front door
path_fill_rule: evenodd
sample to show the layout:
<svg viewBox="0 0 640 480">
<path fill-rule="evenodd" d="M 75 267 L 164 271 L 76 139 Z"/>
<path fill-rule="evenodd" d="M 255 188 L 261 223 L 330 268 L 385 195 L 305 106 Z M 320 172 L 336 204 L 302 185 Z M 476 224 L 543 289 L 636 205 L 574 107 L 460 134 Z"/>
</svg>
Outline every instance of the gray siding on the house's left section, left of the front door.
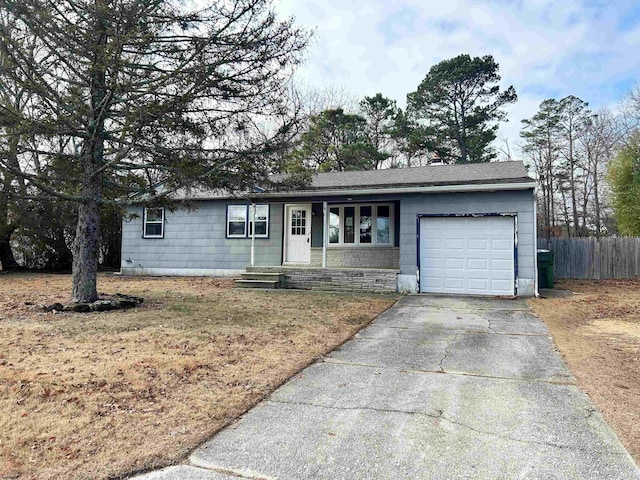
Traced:
<svg viewBox="0 0 640 480">
<path fill-rule="evenodd" d="M 197 202 L 195 209 L 165 209 L 164 238 L 142 238 L 143 207 L 122 224 L 122 267 L 143 269 L 244 269 L 251 239 L 226 238 L 226 207 L 237 202 Z M 255 239 L 257 266 L 280 265 L 282 203 L 269 209 L 269 238 Z M 131 260 L 132 262 L 127 262 Z"/>
</svg>

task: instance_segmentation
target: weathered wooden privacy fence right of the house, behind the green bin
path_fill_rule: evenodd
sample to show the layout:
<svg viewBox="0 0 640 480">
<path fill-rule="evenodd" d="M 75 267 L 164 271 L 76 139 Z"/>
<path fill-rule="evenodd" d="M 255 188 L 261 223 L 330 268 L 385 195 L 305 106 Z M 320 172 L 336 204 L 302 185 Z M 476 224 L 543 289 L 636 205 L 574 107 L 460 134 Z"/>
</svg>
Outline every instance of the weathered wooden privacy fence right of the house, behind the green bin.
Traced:
<svg viewBox="0 0 640 480">
<path fill-rule="evenodd" d="M 556 278 L 633 278 L 640 276 L 640 238 L 545 238 L 538 248 L 554 254 Z"/>
</svg>

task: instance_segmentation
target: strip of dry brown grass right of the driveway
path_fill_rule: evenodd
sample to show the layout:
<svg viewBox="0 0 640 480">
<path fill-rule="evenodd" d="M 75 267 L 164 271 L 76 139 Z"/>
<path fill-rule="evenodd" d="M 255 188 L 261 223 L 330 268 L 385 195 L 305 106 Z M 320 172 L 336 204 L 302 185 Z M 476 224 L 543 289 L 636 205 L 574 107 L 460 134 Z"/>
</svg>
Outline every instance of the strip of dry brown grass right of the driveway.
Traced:
<svg viewBox="0 0 640 480">
<path fill-rule="evenodd" d="M 530 300 L 578 386 L 640 464 L 640 281 L 565 280 L 569 298 Z"/>
</svg>

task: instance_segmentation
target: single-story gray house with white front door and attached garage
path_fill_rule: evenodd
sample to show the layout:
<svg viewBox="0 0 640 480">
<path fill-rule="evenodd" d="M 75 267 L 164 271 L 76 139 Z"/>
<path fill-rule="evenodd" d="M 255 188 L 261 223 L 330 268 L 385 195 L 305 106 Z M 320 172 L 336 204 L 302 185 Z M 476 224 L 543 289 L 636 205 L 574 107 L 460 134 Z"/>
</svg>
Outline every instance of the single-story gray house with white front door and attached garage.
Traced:
<svg viewBox="0 0 640 480">
<path fill-rule="evenodd" d="M 299 288 L 532 296 L 535 182 L 522 162 L 319 173 L 300 190 L 131 207 L 122 274 L 281 272 Z"/>
</svg>

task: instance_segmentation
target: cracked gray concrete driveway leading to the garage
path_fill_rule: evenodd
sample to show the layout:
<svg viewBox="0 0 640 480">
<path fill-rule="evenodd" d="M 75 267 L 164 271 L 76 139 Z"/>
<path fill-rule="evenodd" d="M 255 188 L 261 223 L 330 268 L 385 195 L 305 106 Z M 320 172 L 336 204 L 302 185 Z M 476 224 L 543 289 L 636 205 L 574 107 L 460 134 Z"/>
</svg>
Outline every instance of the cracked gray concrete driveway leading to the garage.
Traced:
<svg viewBox="0 0 640 480">
<path fill-rule="evenodd" d="M 154 479 L 640 479 L 522 300 L 408 296 Z"/>
</svg>

